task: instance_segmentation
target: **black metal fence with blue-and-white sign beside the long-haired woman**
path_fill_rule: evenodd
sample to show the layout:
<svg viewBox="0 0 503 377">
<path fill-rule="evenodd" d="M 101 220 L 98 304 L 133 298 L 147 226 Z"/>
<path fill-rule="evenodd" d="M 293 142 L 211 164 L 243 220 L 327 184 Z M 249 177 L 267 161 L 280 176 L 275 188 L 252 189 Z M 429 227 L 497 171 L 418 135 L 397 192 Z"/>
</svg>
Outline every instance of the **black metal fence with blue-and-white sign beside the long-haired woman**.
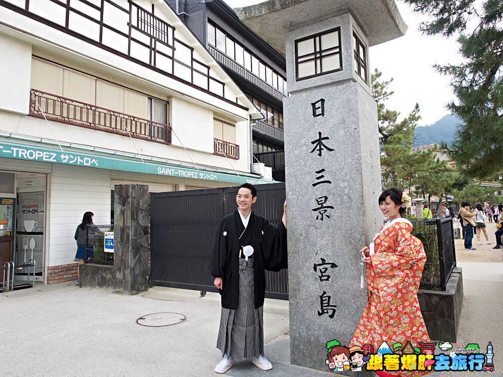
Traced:
<svg viewBox="0 0 503 377">
<path fill-rule="evenodd" d="M 113 231 L 113 224 L 86 225 L 85 263 L 114 264 L 114 253 L 110 252 L 113 250 L 113 241 L 110 244 L 110 238 L 105 238 L 105 233 Z"/>
</svg>

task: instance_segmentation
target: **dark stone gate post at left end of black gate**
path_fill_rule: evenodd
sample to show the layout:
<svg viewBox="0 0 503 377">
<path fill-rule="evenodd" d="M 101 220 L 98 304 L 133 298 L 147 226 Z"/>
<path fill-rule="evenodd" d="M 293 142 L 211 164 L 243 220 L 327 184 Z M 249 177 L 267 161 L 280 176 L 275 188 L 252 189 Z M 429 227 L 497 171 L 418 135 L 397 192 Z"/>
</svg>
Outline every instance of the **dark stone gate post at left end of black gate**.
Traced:
<svg viewBox="0 0 503 377">
<path fill-rule="evenodd" d="M 114 286 L 148 290 L 148 186 L 116 184 L 114 200 Z"/>
</svg>

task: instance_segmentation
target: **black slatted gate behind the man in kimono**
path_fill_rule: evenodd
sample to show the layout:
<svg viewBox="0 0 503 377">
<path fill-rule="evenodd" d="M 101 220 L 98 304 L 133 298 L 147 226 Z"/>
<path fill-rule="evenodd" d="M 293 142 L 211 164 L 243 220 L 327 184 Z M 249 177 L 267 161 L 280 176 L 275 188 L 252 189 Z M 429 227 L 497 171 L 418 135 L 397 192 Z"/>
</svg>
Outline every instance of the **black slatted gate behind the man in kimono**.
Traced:
<svg viewBox="0 0 503 377">
<path fill-rule="evenodd" d="M 285 183 L 257 185 L 252 209 L 274 224 L 281 221 Z M 236 187 L 150 195 L 150 284 L 218 292 L 209 272 L 220 220 L 237 208 Z M 266 297 L 288 300 L 288 271 L 266 271 Z"/>
</svg>

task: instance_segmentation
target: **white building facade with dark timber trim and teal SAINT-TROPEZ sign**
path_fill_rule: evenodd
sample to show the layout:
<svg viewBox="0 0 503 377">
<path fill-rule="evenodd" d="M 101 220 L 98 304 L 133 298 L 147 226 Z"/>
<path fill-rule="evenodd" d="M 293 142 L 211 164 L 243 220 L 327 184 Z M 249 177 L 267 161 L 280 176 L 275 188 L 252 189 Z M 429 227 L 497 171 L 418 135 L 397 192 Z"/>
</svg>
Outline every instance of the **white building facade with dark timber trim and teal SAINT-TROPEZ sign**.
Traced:
<svg viewBox="0 0 503 377">
<path fill-rule="evenodd" d="M 110 223 L 115 184 L 270 182 L 250 173 L 262 115 L 164 1 L 0 0 L 0 51 L 0 198 L 37 280 L 75 278 L 75 228 Z"/>
</svg>

